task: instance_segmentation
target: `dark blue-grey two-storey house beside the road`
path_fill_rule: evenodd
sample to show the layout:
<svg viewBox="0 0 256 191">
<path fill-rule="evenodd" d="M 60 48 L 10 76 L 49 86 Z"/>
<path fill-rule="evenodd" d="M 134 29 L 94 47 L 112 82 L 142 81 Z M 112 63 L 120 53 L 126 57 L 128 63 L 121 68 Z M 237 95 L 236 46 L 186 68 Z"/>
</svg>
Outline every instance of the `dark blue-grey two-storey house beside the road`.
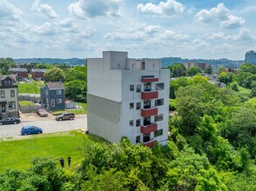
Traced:
<svg viewBox="0 0 256 191">
<path fill-rule="evenodd" d="M 48 82 L 40 89 L 41 102 L 47 110 L 65 109 L 65 89 L 62 82 Z"/>
</svg>

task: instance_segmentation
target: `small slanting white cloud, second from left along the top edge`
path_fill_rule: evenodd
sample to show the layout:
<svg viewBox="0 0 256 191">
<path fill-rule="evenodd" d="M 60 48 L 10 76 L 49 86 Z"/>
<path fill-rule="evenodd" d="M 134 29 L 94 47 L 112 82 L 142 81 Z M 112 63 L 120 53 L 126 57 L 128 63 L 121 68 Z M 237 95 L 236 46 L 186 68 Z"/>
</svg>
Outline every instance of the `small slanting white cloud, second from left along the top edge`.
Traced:
<svg viewBox="0 0 256 191">
<path fill-rule="evenodd" d="M 57 18 L 56 12 L 52 9 L 49 4 L 42 4 L 40 0 L 36 0 L 35 3 L 32 4 L 31 10 L 34 10 L 38 13 L 42 13 L 49 18 Z"/>
</svg>

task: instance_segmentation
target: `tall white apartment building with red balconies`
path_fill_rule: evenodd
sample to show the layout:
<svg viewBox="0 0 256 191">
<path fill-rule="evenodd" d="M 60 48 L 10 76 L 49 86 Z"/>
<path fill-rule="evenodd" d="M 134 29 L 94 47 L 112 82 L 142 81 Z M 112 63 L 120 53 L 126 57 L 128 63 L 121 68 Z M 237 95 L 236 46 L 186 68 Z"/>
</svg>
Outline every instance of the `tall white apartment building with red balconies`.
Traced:
<svg viewBox="0 0 256 191">
<path fill-rule="evenodd" d="M 131 59 L 104 51 L 87 59 L 87 122 L 90 134 L 109 142 L 167 144 L 170 70 L 159 59 Z"/>
</svg>

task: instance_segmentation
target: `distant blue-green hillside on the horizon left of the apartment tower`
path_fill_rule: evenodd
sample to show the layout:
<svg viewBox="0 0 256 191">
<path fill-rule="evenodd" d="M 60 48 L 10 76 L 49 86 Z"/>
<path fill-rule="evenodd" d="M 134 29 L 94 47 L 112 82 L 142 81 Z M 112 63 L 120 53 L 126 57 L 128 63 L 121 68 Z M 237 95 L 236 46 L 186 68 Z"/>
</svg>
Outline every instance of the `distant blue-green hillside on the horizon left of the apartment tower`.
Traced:
<svg viewBox="0 0 256 191">
<path fill-rule="evenodd" d="M 58 63 L 58 64 L 66 64 L 66 65 L 83 65 L 86 63 L 86 59 L 80 58 L 19 58 L 14 59 L 15 63 Z"/>
</svg>

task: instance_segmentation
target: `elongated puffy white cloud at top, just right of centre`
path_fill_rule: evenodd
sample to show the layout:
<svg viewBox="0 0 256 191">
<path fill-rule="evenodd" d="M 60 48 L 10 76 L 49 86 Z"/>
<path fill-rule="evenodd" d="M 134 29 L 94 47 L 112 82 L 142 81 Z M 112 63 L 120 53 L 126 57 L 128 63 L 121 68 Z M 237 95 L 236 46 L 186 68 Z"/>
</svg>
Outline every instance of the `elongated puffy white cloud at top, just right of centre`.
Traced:
<svg viewBox="0 0 256 191">
<path fill-rule="evenodd" d="M 158 4 L 145 3 L 144 5 L 143 3 L 139 3 L 137 5 L 137 11 L 145 15 L 180 16 L 183 14 L 184 9 L 183 4 L 176 0 L 167 0 Z"/>
</svg>

